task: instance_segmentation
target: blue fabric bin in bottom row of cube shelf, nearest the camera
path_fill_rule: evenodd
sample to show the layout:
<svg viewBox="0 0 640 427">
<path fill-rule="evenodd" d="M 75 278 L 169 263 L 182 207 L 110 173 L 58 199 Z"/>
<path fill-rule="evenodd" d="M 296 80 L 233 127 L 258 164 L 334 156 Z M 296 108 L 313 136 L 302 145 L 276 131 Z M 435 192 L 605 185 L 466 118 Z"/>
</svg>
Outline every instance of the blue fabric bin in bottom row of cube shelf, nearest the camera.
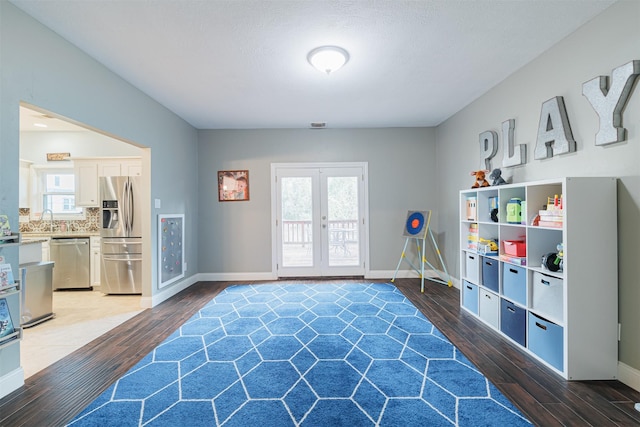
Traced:
<svg viewBox="0 0 640 427">
<path fill-rule="evenodd" d="M 529 313 L 529 350 L 559 371 L 564 368 L 563 328 Z"/>
</svg>

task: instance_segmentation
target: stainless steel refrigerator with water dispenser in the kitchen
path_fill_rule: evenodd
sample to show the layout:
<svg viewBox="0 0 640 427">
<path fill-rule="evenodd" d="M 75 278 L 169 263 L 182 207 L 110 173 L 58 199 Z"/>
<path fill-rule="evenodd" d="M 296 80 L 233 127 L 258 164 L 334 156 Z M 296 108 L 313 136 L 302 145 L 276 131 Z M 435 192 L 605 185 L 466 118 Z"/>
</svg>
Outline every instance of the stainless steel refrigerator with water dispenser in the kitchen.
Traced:
<svg viewBox="0 0 640 427">
<path fill-rule="evenodd" d="M 140 195 L 137 176 L 100 178 L 100 290 L 105 294 L 142 293 Z"/>
</svg>

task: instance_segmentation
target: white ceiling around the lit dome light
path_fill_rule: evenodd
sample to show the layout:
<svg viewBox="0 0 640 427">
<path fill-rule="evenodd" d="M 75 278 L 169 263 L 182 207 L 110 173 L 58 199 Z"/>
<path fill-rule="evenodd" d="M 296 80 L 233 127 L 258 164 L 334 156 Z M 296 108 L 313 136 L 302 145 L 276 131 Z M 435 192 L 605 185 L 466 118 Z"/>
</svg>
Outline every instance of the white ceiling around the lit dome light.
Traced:
<svg viewBox="0 0 640 427">
<path fill-rule="evenodd" d="M 10 1 L 198 129 L 435 126 L 615 2 Z"/>
</svg>

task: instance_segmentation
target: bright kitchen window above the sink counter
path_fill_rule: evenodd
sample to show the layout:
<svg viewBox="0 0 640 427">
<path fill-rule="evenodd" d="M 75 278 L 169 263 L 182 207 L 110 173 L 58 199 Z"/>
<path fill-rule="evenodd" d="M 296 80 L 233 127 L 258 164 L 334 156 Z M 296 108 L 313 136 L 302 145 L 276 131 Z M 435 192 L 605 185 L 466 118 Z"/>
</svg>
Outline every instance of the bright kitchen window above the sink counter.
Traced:
<svg viewBox="0 0 640 427">
<path fill-rule="evenodd" d="M 73 168 L 37 168 L 37 194 L 32 205 L 32 218 L 39 219 L 51 209 L 55 219 L 85 219 L 84 209 L 76 207 L 76 177 Z"/>
</svg>

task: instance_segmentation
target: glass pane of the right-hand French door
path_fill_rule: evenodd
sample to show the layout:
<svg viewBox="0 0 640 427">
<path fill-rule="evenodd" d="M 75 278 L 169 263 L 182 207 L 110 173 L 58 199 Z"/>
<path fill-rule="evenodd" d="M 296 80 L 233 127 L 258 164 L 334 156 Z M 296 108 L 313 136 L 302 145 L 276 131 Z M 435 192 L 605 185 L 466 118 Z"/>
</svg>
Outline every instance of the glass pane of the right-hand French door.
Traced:
<svg viewBox="0 0 640 427">
<path fill-rule="evenodd" d="M 327 177 L 329 265 L 360 264 L 358 177 Z"/>
</svg>

